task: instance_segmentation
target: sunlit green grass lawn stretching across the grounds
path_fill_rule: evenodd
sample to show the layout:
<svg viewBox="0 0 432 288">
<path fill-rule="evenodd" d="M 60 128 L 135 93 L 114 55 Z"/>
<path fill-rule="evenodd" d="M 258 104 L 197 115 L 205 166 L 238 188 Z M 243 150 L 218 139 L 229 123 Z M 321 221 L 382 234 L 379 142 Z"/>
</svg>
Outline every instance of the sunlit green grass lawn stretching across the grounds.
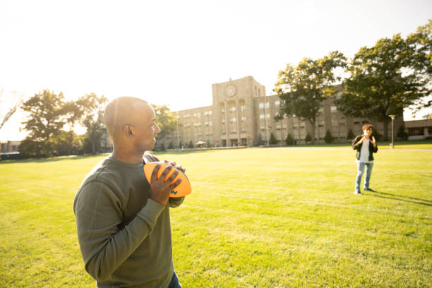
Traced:
<svg viewBox="0 0 432 288">
<path fill-rule="evenodd" d="M 158 154 L 193 185 L 171 212 L 181 284 L 432 287 L 432 145 L 407 148 L 378 151 L 364 196 L 348 148 Z M 95 287 L 72 204 L 103 157 L 0 162 L 0 287 Z"/>
</svg>

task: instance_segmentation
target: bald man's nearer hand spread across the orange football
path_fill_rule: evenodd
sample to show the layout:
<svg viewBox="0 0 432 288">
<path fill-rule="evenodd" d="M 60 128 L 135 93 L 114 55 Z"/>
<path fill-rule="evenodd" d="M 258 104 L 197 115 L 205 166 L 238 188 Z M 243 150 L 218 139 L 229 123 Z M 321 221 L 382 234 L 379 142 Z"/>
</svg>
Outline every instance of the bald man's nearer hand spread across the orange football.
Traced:
<svg viewBox="0 0 432 288">
<path fill-rule="evenodd" d="M 150 178 L 150 195 L 148 197 L 152 200 L 155 200 L 157 203 L 160 203 L 161 205 L 167 205 L 171 191 L 174 190 L 176 186 L 179 186 L 181 183 L 181 178 L 179 178 L 174 184 L 170 185 L 171 182 L 176 178 L 177 174 L 179 174 L 179 171 L 177 171 L 177 169 L 171 165 L 168 165 L 160 175 L 159 179 L 157 179 L 157 173 L 159 172 L 159 169 L 160 164 L 157 164 L 155 169 L 153 169 L 152 176 Z M 171 169 L 175 169 L 174 173 L 168 177 L 167 181 L 164 181 Z"/>
</svg>

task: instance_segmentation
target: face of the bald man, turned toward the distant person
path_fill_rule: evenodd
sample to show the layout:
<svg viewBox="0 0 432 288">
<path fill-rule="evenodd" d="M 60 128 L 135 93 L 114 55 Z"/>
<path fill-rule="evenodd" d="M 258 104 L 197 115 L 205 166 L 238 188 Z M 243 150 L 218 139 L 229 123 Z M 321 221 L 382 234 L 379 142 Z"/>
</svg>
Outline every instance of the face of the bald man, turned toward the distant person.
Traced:
<svg viewBox="0 0 432 288">
<path fill-rule="evenodd" d="M 153 107 L 149 104 L 136 110 L 138 115 L 138 123 L 135 127 L 135 145 L 137 150 L 145 152 L 155 148 L 156 134 L 160 132 L 159 126 L 156 124 L 156 114 Z"/>
</svg>

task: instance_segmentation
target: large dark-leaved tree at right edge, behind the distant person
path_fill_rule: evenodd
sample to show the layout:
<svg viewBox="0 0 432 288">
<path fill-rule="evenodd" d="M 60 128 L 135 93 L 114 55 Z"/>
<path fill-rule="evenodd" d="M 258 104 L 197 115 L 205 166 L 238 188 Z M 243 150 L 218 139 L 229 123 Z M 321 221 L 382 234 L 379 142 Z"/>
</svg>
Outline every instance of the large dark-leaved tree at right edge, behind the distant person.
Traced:
<svg viewBox="0 0 432 288">
<path fill-rule="evenodd" d="M 383 122 L 388 140 L 389 115 L 402 115 L 404 107 L 419 105 L 431 95 L 432 20 L 416 33 L 378 40 L 373 47 L 361 47 L 347 71 L 338 109 L 347 116 L 362 116 Z M 429 106 L 431 102 L 423 105 Z"/>
</svg>

